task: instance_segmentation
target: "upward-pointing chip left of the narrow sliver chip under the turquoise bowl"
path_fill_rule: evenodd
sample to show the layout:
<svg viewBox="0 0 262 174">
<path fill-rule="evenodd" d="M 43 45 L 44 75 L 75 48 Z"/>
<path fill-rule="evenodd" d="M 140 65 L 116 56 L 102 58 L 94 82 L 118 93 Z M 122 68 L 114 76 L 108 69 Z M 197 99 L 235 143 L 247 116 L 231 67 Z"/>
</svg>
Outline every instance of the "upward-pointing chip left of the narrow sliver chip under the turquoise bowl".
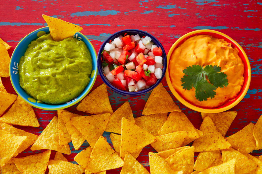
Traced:
<svg viewBox="0 0 262 174">
<path fill-rule="evenodd" d="M 68 144 L 64 146 L 59 145 L 58 134 L 58 118 L 54 117 L 32 145 L 31 150 L 50 149 L 69 155 L 71 150 Z"/>
</svg>

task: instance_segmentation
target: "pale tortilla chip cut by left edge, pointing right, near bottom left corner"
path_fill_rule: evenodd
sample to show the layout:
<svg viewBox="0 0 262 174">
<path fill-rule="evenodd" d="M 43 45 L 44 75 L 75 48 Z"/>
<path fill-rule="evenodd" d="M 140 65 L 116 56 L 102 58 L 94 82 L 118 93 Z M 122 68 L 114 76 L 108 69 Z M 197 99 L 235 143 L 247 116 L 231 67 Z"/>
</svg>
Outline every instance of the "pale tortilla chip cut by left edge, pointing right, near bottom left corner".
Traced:
<svg viewBox="0 0 262 174">
<path fill-rule="evenodd" d="M 20 146 L 28 136 L 8 134 L 0 130 L 0 165 L 3 167 L 8 161 L 18 155 Z"/>
</svg>

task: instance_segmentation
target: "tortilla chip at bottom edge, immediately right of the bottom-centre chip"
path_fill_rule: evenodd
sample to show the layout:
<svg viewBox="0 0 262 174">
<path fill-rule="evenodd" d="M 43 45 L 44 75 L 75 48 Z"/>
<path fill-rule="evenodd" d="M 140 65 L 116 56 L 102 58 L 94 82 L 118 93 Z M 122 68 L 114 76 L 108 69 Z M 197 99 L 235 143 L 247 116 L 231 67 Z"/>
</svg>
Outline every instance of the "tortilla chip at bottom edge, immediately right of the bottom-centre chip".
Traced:
<svg viewBox="0 0 262 174">
<path fill-rule="evenodd" d="M 183 174 L 183 171 L 176 172 L 173 169 L 171 169 L 171 166 L 167 164 L 167 162 L 163 158 L 158 156 L 156 153 L 149 152 L 148 157 L 151 174 Z"/>
</svg>

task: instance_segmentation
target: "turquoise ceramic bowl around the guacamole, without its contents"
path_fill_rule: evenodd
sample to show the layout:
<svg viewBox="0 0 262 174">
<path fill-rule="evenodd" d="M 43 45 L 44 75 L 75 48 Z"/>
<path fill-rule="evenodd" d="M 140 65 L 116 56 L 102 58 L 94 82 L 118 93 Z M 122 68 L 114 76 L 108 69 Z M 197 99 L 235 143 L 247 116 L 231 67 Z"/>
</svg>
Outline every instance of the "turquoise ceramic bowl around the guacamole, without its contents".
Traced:
<svg viewBox="0 0 262 174">
<path fill-rule="evenodd" d="M 43 28 L 39 28 L 31 33 L 29 33 L 28 35 L 26 35 L 16 46 L 11 60 L 10 60 L 10 67 L 9 67 L 9 74 L 10 74 L 10 80 L 11 83 L 15 89 L 15 91 L 17 92 L 17 94 L 26 101 L 26 103 L 37 107 L 39 109 L 44 109 L 44 110 L 58 110 L 58 109 L 64 109 L 67 107 L 70 107 L 76 103 L 78 103 L 80 100 L 82 100 L 91 90 L 92 86 L 95 83 L 96 80 L 96 76 L 97 76 L 97 63 L 96 63 L 96 51 L 93 47 L 93 45 L 91 44 L 91 42 L 88 40 L 88 38 L 86 38 L 83 34 L 81 34 L 80 32 L 75 33 L 74 37 L 84 41 L 84 43 L 86 44 L 90 54 L 91 54 L 91 58 L 92 58 L 92 73 L 90 75 L 90 82 L 88 83 L 88 85 L 86 86 L 86 88 L 84 89 L 84 91 L 75 99 L 68 101 L 67 103 L 63 103 L 63 104 L 47 104 L 47 103 L 38 103 L 37 100 L 35 100 L 34 98 L 32 98 L 30 95 L 28 95 L 25 90 L 20 86 L 19 84 L 19 71 L 18 71 L 18 64 L 20 61 L 20 58 L 22 56 L 24 56 L 24 53 L 26 51 L 26 49 L 28 48 L 28 45 L 31 43 L 31 41 L 36 40 L 37 38 L 39 38 L 40 36 L 42 36 L 43 34 L 46 33 L 50 33 L 49 28 L 48 27 L 43 27 Z"/>
</svg>

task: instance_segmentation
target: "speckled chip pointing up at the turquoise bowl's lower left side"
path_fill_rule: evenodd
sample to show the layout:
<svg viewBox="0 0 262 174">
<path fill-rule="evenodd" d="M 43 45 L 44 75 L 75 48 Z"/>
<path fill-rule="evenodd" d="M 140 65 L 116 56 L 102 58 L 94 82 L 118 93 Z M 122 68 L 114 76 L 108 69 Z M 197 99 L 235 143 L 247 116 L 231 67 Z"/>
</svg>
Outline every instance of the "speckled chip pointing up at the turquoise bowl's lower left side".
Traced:
<svg viewBox="0 0 262 174">
<path fill-rule="evenodd" d="M 0 118 L 0 121 L 20 126 L 40 126 L 32 106 L 19 96 L 7 113 Z"/>
</svg>

